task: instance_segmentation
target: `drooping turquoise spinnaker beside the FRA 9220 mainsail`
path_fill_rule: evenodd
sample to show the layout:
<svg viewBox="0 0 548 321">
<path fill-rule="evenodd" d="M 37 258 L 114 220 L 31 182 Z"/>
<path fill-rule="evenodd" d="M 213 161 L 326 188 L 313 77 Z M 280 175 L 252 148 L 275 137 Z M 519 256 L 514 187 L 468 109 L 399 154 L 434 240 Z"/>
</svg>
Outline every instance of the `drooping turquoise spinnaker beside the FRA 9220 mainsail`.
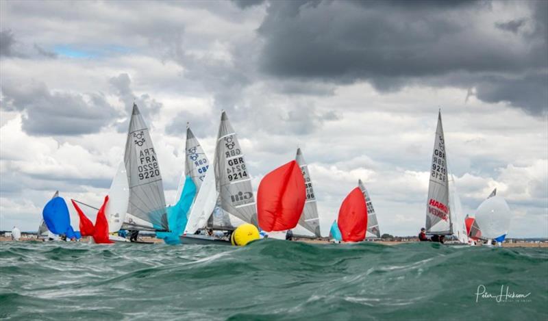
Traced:
<svg viewBox="0 0 548 321">
<path fill-rule="evenodd" d="M 169 224 L 169 232 L 158 232 L 156 237 L 161 238 L 166 244 L 180 244 L 179 235 L 182 235 L 186 227 L 186 214 L 192 205 L 192 200 L 196 195 L 196 185 L 192 181 L 192 177 L 187 176 L 184 181 L 183 192 L 177 204 L 166 208 L 167 221 Z"/>
</svg>

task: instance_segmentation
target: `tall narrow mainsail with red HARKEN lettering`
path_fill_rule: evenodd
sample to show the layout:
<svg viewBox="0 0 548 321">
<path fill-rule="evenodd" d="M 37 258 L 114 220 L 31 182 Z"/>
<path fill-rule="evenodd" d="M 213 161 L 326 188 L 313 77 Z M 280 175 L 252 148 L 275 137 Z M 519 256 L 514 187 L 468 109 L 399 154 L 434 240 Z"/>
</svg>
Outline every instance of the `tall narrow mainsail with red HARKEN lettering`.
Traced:
<svg viewBox="0 0 548 321">
<path fill-rule="evenodd" d="M 443 125 L 441 123 L 441 112 L 439 112 L 426 205 L 426 233 L 429 234 L 450 235 L 453 233 L 449 208 L 446 159 Z"/>
</svg>

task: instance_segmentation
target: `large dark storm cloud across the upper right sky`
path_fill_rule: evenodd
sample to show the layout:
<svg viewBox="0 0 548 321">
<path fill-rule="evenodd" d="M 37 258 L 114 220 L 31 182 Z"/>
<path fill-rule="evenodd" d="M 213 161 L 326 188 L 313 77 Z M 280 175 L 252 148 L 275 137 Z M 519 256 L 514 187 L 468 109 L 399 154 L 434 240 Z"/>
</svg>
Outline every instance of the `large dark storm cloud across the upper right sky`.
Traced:
<svg viewBox="0 0 548 321">
<path fill-rule="evenodd" d="M 534 32 L 516 34 L 519 45 L 508 50 L 506 36 L 475 29 L 473 19 L 491 10 L 487 1 L 271 1 L 258 29 L 260 68 L 279 79 L 369 81 L 381 91 L 464 73 L 456 86 L 476 87 L 479 99 L 545 114 L 547 5 L 523 5 L 532 6 Z M 518 31 L 520 19 L 498 28 Z M 514 75 L 523 79 L 520 90 L 508 86 Z M 539 89 L 540 98 L 529 97 Z"/>
</svg>

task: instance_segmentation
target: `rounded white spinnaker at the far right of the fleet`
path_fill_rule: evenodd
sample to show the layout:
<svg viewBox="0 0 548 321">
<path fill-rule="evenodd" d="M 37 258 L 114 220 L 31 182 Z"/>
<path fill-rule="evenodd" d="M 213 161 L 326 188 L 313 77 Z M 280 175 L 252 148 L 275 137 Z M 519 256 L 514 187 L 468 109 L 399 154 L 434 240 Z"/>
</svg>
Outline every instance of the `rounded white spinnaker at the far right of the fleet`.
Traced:
<svg viewBox="0 0 548 321">
<path fill-rule="evenodd" d="M 475 221 L 484 239 L 495 239 L 508 233 L 511 219 L 512 212 L 502 196 L 487 198 L 475 212 Z"/>
</svg>

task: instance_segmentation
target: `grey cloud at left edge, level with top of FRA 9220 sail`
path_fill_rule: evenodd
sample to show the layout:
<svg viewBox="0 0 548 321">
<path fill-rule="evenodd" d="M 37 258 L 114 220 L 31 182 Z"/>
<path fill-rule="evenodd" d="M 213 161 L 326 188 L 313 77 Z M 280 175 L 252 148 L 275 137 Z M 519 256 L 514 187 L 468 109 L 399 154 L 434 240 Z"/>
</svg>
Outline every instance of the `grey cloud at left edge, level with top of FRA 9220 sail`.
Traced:
<svg viewBox="0 0 548 321">
<path fill-rule="evenodd" d="M 3 110 L 23 112 L 23 130 L 30 135 L 97 133 L 118 116 L 103 94 L 51 92 L 43 83 L 3 84 Z"/>
</svg>

